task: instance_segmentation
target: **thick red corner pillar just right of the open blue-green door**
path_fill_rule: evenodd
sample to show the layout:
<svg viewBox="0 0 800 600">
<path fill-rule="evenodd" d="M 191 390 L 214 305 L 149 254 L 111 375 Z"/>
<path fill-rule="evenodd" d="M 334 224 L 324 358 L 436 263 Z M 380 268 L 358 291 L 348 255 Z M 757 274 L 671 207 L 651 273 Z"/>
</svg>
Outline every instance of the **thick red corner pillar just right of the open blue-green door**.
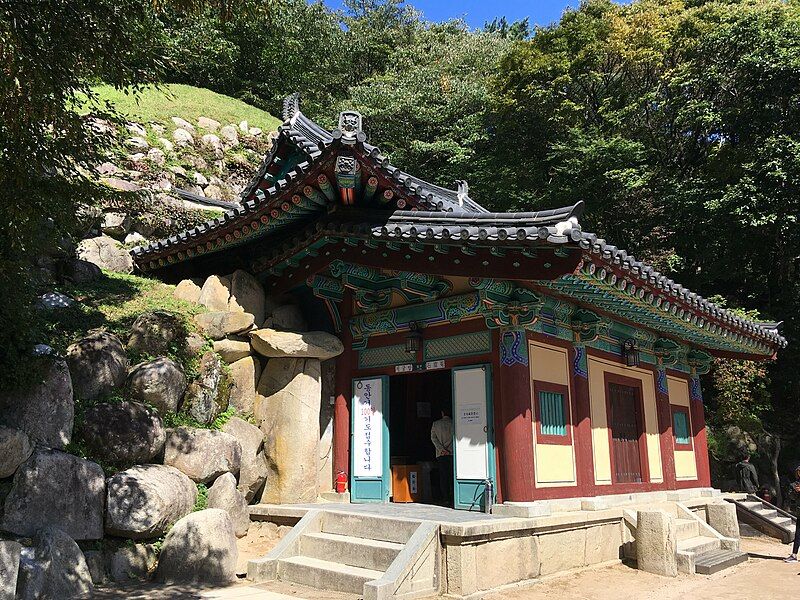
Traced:
<svg viewBox="0 0 800 600">
<path fill-rule="evenodd" d="M 524 502 L 533 500 L 535 493 L 528 338 L 524 329 L 512 329 L 496 339 L 500 397 L 494 406 L 500 413 L 503 499 Z"/>
</svg>

